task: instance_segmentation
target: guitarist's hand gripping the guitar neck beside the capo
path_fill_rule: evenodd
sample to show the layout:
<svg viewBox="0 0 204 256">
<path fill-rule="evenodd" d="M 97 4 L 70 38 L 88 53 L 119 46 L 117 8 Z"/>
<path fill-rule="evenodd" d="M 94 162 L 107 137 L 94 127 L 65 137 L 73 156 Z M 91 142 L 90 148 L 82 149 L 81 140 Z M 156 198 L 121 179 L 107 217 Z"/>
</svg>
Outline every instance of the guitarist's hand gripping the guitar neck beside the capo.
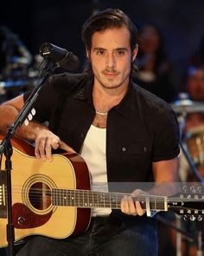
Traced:
<svg viewBox="0 0 204 256">
<path fill-rule="evenodd" d="M 146 194 L 140 189 L 136 189 L 131 193 L 131 195 L 124 195 L 124 198 L 121 200 L 121 211 L 127 215 L 133 216 L 142 216 L 145 213 L 145 210 L 140 205 L 138 200 L 133 201 L 133 197 L 137 197 L 139 194 Z"/>
</svg>

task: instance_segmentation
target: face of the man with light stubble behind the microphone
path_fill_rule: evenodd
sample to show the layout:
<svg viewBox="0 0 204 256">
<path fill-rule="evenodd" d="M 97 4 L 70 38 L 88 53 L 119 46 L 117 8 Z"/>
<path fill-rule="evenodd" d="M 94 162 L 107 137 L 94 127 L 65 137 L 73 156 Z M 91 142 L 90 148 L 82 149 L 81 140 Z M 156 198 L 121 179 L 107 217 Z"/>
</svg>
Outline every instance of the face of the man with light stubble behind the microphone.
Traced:
<svg viewBox="0 0 204 256">
<path fill-rule="evenodd" d="M 127 28 L 112 28 L 92 35 L 92 48 L 87 56 L 92 64 L 94 82 L 105 89 L 116 89 L 128 85 L 131 61 L 137 56 L 137 48 L 131 52 Z"/>
</svg>

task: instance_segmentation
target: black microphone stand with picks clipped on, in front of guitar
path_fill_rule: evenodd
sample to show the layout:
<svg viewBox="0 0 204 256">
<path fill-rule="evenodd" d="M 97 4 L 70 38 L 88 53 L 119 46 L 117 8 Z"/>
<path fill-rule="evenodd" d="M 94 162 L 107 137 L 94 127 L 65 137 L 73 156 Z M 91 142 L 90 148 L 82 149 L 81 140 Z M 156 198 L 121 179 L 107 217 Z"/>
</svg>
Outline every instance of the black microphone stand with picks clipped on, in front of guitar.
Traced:
<svg viewBox="0 0 204 256">
<path fill-rule="evenodd" d="M 29 95 L 28 100 L 25 102 L 22 110 L 19 115 L 16 117 L 16 121 L 9 126 L 6 136 L 0 144 L 0 154 L 5 155 L 5 170 L 7 177 L 7 213 L 8 213 L 8 224 L 7 224 L 7 241 L 8 241 L 8 253 L 10 256 L 14 255 L 14 241 L 15 241 L 15 233 L 14 233 L 14 224 L 12 220 L 12 191 L 11 191 L 11 170 L 12 170 L 12 146 L 11 146 L 11 138 L 16 132 L 16 128 L 20 127 L 27 119 L 29 115 L 29 111 L 32 108 L 37 96 L 41 91 L 42 84 L 47 81 L 48 77 L 54 72 L 56 68 L 55 62 L 45 59 L 43 60 L 40 68 L 39 82 L 32 93 Z M 33 110 L 33 109 L 32 109 Z M 33 115 L 35 115 L 35 111 Z M 32 119 L 32 118 L 31 118 Z M 27 120 L 28 121 L 28 120 Z"/>
</svg>

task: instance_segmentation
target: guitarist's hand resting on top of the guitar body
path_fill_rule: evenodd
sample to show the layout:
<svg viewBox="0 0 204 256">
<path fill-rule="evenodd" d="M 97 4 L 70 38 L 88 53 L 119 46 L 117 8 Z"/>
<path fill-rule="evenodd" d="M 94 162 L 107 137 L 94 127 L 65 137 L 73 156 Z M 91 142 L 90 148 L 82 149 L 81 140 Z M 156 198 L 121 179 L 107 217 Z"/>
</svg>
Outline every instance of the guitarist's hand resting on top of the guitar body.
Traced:
<svg viewBox="0 0 204 256">
<path fill-rule="evenodd" d="M 73 148 L 70 148 L 65 142 L 54 135 L 50 130 L 41 129 L 35 138 L 35 156 L 41 158 L 42 161 L 52 161 L 52 148 L 61 148 L 67 152 L 75 153 Z"/>
</svg>

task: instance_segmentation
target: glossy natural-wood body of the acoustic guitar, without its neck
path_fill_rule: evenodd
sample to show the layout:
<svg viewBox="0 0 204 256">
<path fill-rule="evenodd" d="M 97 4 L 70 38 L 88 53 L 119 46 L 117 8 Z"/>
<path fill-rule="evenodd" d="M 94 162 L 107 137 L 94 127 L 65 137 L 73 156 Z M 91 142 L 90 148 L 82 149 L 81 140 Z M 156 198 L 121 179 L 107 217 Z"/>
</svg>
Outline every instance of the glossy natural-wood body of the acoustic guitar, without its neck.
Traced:
<svg viewBox="0 0 204 256">
<path fill-rule="evenodd" d="M 3 140 L 3 135 L 0 135 Z M 86 230 L 91 209 L 52 204 L 51 188 L 90 190 L 85 161 L 78 154 L 54 154 L 52 162 L 35 158 L 35 148 L 18 138 L 13 147 L 11 185 L 15 240 L 29 235 L 63 239 Z M 4 169 L 4 156 L 2 167 Z M 7 246 L 6 171 L 0 172 L 0 247 Z"/>
</svg>

